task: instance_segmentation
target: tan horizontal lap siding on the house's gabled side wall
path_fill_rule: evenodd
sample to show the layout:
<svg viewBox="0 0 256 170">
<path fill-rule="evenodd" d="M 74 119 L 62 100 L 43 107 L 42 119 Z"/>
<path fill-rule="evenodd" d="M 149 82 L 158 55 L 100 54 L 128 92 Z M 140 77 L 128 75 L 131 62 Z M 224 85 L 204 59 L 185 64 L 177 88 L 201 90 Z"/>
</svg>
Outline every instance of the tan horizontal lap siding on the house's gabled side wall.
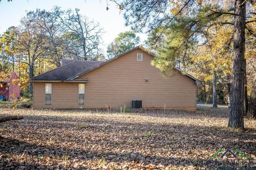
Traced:
<svg viewBox="0 0 256 170">
<path fill-rule="evenodd" d="M 137 61 L 137 53 L 143 61 Z M 170 78 L 163 77 L 152 66 L 153 56 L 133 50 L 77 79 L 85 83 L 84 108 L 119 108 L 121 104 L 131 107 L 131 99 L 142 99 L 142 107 L 166 109 L 195 109 L 196 83 L 174 71 Z M 146 81 L 148 79 L 148 81 Z M 35 108 L 79 108 L 77 83 L 52 83 L 53 104 L 44 105 L 44 83 L 34 83 Z"/>
</svg>

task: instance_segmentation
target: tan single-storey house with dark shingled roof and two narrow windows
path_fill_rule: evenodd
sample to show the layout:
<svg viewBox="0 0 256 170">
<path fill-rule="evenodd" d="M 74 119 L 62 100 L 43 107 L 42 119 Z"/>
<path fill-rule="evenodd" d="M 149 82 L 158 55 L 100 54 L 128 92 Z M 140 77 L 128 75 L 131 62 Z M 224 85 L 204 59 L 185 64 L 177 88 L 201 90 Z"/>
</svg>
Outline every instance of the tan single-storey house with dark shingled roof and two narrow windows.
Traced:
<svg viewBox="0 0 256 170">
<path fill-rule="evenodd" d="M 139 99 L 143 108 L 195 110 L 200 81 L 179 69 L 163 77 L 151 65 L 153 58 L 136 47 L 106 62 L 63 60 L 31 79 L 34 108 L 131 108 L 131 100 Z"/>
</svg>

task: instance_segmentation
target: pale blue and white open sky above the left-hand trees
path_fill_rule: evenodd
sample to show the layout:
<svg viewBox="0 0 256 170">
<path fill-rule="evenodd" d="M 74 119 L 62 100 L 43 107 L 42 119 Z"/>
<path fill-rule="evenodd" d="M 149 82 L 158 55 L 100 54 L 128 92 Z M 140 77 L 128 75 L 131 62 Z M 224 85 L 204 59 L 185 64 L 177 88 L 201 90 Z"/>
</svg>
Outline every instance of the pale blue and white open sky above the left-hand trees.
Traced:
<svg viewBox="0 0 256 170">
<path fill-rule="evenodd" d="M 82 15 L 93 19 L 94 22 L 99 22 L 104 29 L 102 48 L 106 51 L 106 47 L 118 33 L 130 30 L 130 27 L 125 27 L 123 13 L 119 8 L 108 2 L 109 10 L 106 10 L 106 0 L 13 0 L 7 2 L 2 0 L 0 3 L 0 33 L 3 33 L 10 26 L 18 26 L 22 16 L 26 15 L 26 11 L 32 11 L 36 8 L 50 10 L 53 6 L 58 5 L 62 10 L 68 8 L 80 9 Z M 138 33 L 141 41 L 146 39 L 146 35 Z"/>
</svg>

